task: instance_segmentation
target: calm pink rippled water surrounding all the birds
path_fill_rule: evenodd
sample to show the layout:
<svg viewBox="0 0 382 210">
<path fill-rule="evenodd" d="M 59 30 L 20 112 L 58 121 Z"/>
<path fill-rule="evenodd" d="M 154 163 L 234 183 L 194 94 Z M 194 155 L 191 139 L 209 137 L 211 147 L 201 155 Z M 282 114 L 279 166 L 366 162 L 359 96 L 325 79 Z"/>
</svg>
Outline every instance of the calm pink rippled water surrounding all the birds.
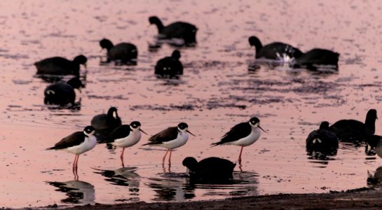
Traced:
<svg viewBox="0 0 382 210">
<path fill-rule="evenodd" d="M 276 193 L 325 193 L 380 183 L 382 160 L 364 148 L 340 145 L 335 156 L 306 155 L 305 139 L 322 120 L 364 120 L 381 109 L 381 6 L 378 1 L 1 1 L 0 2 L 0 207 L 49 204 L 113 204 L 223 199 Z M 174 48 L 149 50 L 156 34 L 148 17 L 198 27 L 196 48 L 181 48 L 184 76 L 161 80 L 154 64 Z M 341 53 L 338 73 L 311 73 L 287 66 L 247 71 L 254 49 L 247 38 L 283 41 L 306 51 L 320 47 Z M 98 41 L 129 41 L 139 49 L 137 66 L 100 65 Z M 88 57 L 86 88 L 77 110 L 43 104 L 48 83 L 35 76 L 39 59 Z M 65 78 L 67 79 L 67 78 Z M 90 124 L 110 106 L 123 123 L 142 123 L 156 134 L 179 122 L 191 137 L 163 168 L 160 148 L 125 151 L 104 145 L 81 155 L 74 181 L 74 155 L 45 151 Z M 191 185 L 182 160 L 210 156 L 237 162 L 239 147 L 210 148 L 233 125 L 257 116 L 262 134 L 244 149 L 233 181 Z M 381 134 L 381 120 L 376 134 Z M 377 172 L 376 172 L 377 171 Z M 369 176 L 373 181 L 367 182 Z"/>
</svg>

